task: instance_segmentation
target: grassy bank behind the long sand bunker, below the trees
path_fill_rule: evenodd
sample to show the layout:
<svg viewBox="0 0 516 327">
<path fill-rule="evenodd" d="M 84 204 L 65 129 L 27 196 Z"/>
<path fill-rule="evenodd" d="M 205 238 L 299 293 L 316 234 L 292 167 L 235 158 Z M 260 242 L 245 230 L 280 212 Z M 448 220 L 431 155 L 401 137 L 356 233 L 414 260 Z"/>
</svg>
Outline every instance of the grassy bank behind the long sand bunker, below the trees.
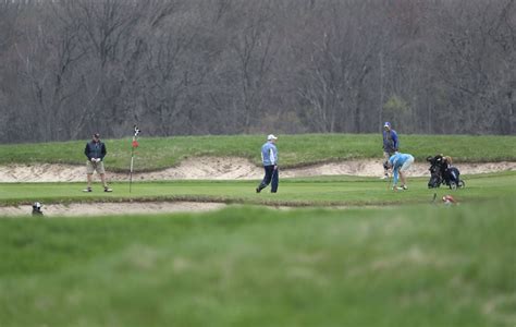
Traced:
<svg viewBox="0 0 516 327">
<path fill-rule="evenodd" d="M 262 135 L 177 136 L 140 138 L 135 169 L 157 170 L 179 165 L 188 157 L 217 156 L 249 158 L 260 162 Z M 336 161 L 382 156 L 380 134 L 303 134 L 280 135 L 278 146 L 283 168 L 322 161 Z M 0 165 L 38 162 L 84 165 L 85 141 L 0 145 Z M 106 140 L 108 170 L 127 171 L 131 140 Z M 401 135 L 402 152 L 417 160 L 440 153 L 451 155 L 456 162 L 516 161 L 516 136 L 470 135 Z"/>
</svg>

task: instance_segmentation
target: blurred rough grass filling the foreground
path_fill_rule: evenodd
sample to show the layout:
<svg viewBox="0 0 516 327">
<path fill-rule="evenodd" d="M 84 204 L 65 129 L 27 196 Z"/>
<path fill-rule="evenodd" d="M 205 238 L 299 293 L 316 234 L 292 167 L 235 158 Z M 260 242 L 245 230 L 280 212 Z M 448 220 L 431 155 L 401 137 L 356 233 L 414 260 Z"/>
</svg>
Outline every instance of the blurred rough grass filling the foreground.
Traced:
<svg viewBox="0 0 516 327">
<path fill-rule="evenodd" d="M 514 326 L 512 201 L 0 219 L 1 326 Z"/>
</svg>

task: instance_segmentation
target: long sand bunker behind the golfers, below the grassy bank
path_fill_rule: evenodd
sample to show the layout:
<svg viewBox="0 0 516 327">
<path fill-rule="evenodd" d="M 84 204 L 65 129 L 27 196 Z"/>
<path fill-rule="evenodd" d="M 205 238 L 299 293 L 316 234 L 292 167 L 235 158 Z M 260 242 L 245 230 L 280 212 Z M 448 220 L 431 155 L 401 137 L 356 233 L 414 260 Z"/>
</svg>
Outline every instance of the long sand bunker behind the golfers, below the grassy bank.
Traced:
<svg viewBox="0 0 516 327">
<path fill-rule="evenodd" d="M 107 164 L 109 169 L 109 161 Z M 516 170 L 516 162 L 457 164 L 460 173 L 475 174 Z M 428 162 L 416 162 L 410 171 L 413 177 L 429 175 Z M 280 167 L 281 169 L 281 167 Z M 381 159 L 348 160 L 319 164 L 303 168 L 281 169 L 282 178 L 312 175 L 351 174 L 359 177 L 381 177 Z M 71 165 L 13 165 L 0 167 L 0 182 L 84 182 L 85 167 Z M 128 173 L 107 173 L 110 181 L 128 181 Z M 263 169 L 243 158 L 189 158 L 180 166 L 160 171 L 134 173 L 134 181 L 162 180 L 258 180 Z"/>
</svg>

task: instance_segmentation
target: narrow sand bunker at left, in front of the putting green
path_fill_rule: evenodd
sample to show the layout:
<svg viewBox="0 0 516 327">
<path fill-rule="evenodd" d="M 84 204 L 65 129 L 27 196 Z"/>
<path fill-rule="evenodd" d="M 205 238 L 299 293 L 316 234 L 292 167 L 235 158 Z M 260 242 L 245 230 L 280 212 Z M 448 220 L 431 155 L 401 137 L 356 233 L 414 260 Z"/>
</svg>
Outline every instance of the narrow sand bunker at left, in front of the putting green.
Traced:
<svg viewBox="0 0 516 327">
<path fill-rule="evenodd" d="M 110 215 L 138 215 L 160 213 L 200 213 L 225 207 L 223 203 L 197 202 L 126 202 L 126 203 L 75 203 L 70 205 L 44 205 L 45 217 L 87 217 Z M 32 206 L 0 207 L 0 216 L 29 217 Z"/>
</svg>

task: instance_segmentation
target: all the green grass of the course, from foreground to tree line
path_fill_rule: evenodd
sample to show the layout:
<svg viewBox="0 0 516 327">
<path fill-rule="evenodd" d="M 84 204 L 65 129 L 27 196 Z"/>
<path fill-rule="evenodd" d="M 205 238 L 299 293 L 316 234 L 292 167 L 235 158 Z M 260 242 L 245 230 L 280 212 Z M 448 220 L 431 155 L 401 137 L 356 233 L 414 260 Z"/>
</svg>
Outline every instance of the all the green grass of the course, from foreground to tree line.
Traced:
<svg viewBox="0 0 516 327">
<path fill-rule="evenodd" d="M 402 135 L 418 160 L 516 161 L 515 136 Z M 0 165 L 82 165 L 85 142 L 0 146 Z M 381 155 L 378 135 L 285 135 L 283 167 Z M 128 166 L 128 140 L 107 166 Z M 262 136 L 142 138 L 139 170 L 186 157 L 259 162 Z M 0 219 L 0 326 L 515 326 L 516 172 L 408 192 L 372 178 L 2 183 L 0 205 L 127 201 L 245 204 L 208 214 Z M 430 204 L 453 194 L 460 205 Z M 346 206 L 274 210 L 248 205 Z M 388 205 L 383 207 L 384 205 Z M 371 207 L 363 207 L 371 206 Z M 380 208 L 382 207 L 382 208 Z"/>
</svg>

